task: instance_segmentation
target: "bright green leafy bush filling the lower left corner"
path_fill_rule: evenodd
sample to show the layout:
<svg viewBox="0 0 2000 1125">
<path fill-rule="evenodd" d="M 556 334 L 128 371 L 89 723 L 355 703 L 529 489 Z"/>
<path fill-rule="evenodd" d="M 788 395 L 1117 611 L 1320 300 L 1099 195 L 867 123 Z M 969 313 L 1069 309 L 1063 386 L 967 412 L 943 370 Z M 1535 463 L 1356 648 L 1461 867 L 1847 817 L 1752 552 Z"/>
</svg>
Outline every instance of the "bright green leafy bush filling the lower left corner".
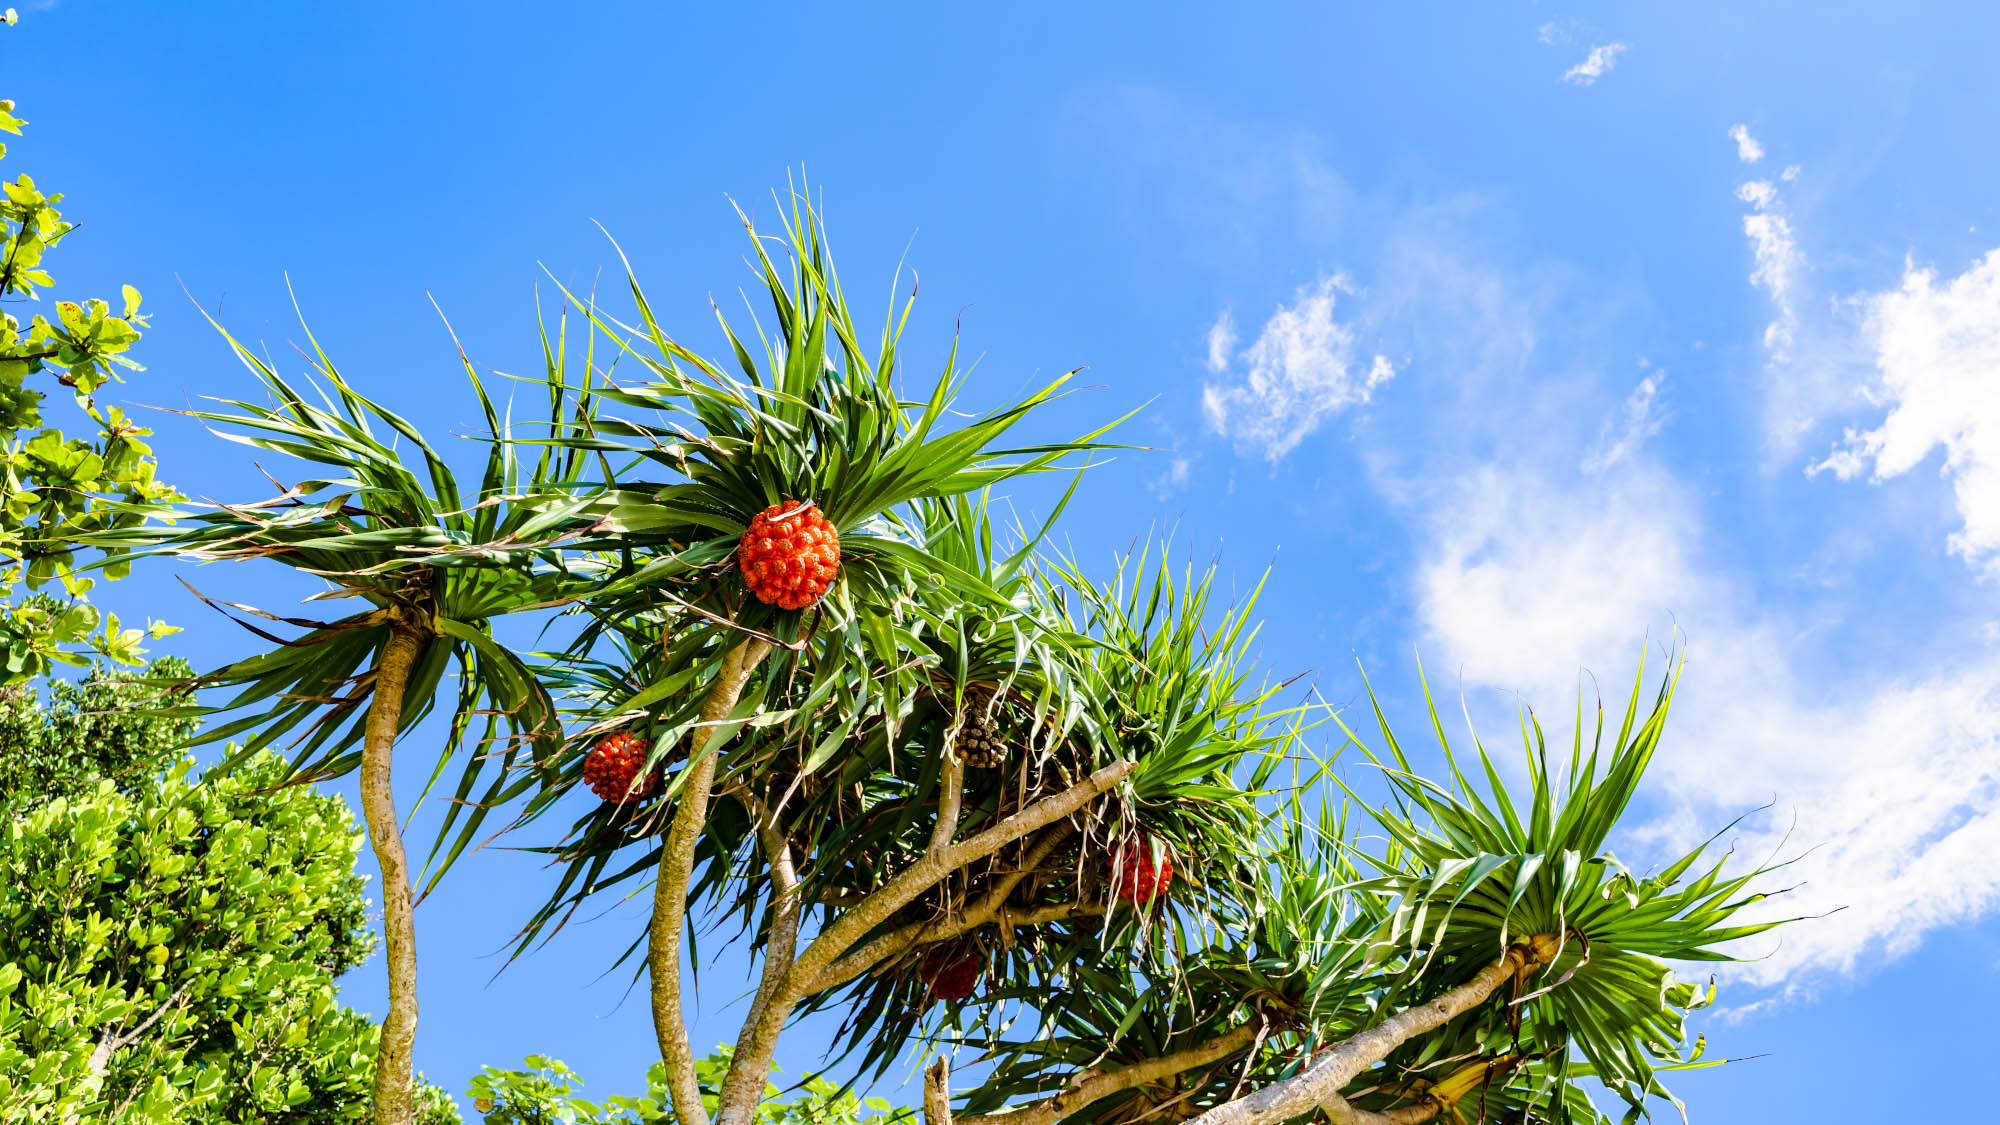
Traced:
<svg viewBox="0 0 2000 1125">
<path fill-rule="evenodd" d="M 374 947 L 360 837 L 338 797 L 282 777 L 274 757 L 202 781 L 182 761 L 6 823 L 10 1121 L 366 1119 L 376 1027 L 334 989 Z"/>
</svg>

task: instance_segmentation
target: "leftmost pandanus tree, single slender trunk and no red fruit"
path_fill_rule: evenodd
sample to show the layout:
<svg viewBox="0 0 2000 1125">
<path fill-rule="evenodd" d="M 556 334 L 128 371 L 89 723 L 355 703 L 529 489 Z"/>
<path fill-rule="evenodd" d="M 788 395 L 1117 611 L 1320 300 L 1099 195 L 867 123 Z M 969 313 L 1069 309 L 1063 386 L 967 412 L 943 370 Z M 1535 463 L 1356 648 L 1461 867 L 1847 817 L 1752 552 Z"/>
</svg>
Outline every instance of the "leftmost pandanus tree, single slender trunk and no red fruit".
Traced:
<svg viewBox="0 0 2000 1125">
<path fill-rule="evenodd" d="M 268 402 L 232 400 L 188 412 L 230 440 L 306 462 L 312 476 L 278 484 L 276 496 L 256 502 L 144 508 L 152 516 L 144 526 L 100 542 L 122 556 L 268 558 L 324 583 L 308 601 L 362 603 L 346 617 L 318 621 L 204 599 L 236 611 L 268 649 L 190 687 L 234 689 L 208 709 L 234 719 L 212 725 L 200 743 L 240 739 L 236 759 L 288 749 L 294 783 L 360 771 L 368 841 L 382 871 L 390 1001 L 374 1107 L 378 1121 L 404 1123 L 412 1119 L 416 927 L 412 869 L 390 789 L 392 751 L 426 717 L 444 717 L 430 785 L 454 763 L 458 781 L 432 849 L 432 883 L 472 839 L 496 791 L 514 785 L 516 775 L 554 781 L 562 743 L 554 703 L 534 669 L 494 639 L 494 625 L 568 597 L 556 546 L 590 522 L 582 514 L 588 500 L 576 488 L 586 478 L 586 454 L 542 446 L 540 456 L 522 460 L 520 450 L 530 446 L 508 440 L 506 422 L 464 362 L 494 430 L 478 482 L 464 488 L 418 428 L 358 392 L 310 332 L 314 378 L 306 388 L 222 334 Z M 548 350 L 552 364 L 560 352 Z M 568 426 L 568 410 L 588 410 L 588 388 L 570 396 L 562 370 L 552 368 L 548 378 L 546 424 Z"/>
</svg>

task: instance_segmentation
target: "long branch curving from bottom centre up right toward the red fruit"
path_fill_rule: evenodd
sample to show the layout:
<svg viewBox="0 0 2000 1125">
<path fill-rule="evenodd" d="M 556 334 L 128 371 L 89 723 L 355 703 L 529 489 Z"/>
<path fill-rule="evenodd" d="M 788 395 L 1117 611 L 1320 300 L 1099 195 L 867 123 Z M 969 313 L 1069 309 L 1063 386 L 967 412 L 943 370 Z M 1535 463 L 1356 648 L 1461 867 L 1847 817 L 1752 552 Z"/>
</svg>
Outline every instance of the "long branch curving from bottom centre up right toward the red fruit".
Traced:
<svg viewBox="0 0 2000 1125">
<path fill-rule="evenodd" d="M 778 1047 L 778 1031 L 792 1019 L 792 1009 L 806 995 L 808 985 L 826 973 L 826 967 L 836 957 L 846 953 L 868 931 L 886 923 L 890 915 L 910 905 L 918 895 L 936 887 L 952 871 L 1080 811 L 1130 777 L 1134 769 L 1138 769 L 1136 761 L 1116 761 L 1092 773 L 1082 783 L 1054 797 L 1044 797 L 982 833 L 918 859 L 880 891 L 874 891 L 826 927 L 798 955 L 798 961 L 792 963 L 784 975 L 784 987 L 758 1013 L 756 1025 L 744 1027 L 742 1037 L 738 1037 L 736 1057 L 730 1061 L 728 1079 L 722 1083 L 720 1125 L 750 1125 L 758 1095 L 764 1093 L 764 1075 L 770 1073 L 772 1051 Z M 708 1123 L 684 1119 L 684 1125 Z"/>
</svg>

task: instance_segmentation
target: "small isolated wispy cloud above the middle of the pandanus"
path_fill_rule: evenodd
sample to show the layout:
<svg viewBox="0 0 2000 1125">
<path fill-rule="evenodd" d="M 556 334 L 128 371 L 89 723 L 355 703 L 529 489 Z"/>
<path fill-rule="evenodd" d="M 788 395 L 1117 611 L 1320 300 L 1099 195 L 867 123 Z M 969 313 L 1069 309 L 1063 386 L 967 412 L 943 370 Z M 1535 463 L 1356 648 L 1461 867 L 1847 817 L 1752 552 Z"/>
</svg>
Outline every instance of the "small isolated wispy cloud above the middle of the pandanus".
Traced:
<svg viewBox="0 0 2000 1125">
<path fill-rule="evenodd" d="M 1276 462 L 1324 420 L 1368 402 L 1396 368 L 1380 354 L 1364 362 L 1356 354 L 1354 328 L 1334 320 L 1338 294 L 1352 292 L 1348 280 L 1334 274 L 1300 288 L 1292 304 L 1280 306 L 1242 352 L 1248 362 L 1242 378 L 1202 388 L 1208 424 Z M 1234 328 L 1228 338 L 1234 342 Z M 1216 370 L 1216 340 L 1210 328 L 1210 370 Z M 1226 350 L 1222 358 L 1228 358 Z"/>
</svg>

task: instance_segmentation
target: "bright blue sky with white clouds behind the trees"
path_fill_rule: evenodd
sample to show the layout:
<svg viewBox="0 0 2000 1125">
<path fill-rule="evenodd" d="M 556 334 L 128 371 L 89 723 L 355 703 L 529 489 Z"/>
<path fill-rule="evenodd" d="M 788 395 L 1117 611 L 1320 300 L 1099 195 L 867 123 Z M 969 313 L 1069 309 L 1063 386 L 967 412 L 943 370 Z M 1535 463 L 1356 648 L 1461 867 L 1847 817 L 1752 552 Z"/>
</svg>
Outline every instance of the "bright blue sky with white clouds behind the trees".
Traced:
<svg viewBox="0 0 2000 1125">
<path fill-rule="evenodd" d="M 1726 975 L 1710 1051 L 1764 1057 L 1680 1083 L 1702 1121 L 1984 1109 L 1950 1077 L 2000 1001 L 2000 10 L 408 8 L 64 0 L 0 36 L 32 122 L 6 170 L 84 220 L 58 282 L 156 312 L 126 398 L 246 392 L 178 288 L 278 352 L 288 274 L 356 382 L 470 432 L 426 294 L 532 370 L 542 268 L 616 262 L 598 220 L 698 340 L 750 282 L 726 200 L 770 214 L 802 166 L 850 292 L 922 276 L 906 356 L 962 324 L 984 402 L 1088 366 L 1050 432 L 1144 404 L 1156 450 L 1092 472 L 1068 542 L 1272 567 L 1274 675 L 1352 701 L 1358 659 L 1412 723 L 1420 653 L 1498 737 L 1684 637 L 1620 853 L 1770 803 L 1740 853 L 1804 853 L 1788 913 L 1846 907 Z M 262 486 L 160 432 L 186 490 Z M 102 601 L 194 627 L 164 649 L 198 665 L 248 643 L 166 571 Z M 528 1051 L 644 1071 L 644 997 L 604 975 L 634 907 L 488 985 L 546 885 L 482 853 L 418 915 L 452 1089 Z M 704 979 L 698 1041 L 740 975 Z M 1862 1099 L 1858 1059 L 1944 1081 Z"/>
</svg>

